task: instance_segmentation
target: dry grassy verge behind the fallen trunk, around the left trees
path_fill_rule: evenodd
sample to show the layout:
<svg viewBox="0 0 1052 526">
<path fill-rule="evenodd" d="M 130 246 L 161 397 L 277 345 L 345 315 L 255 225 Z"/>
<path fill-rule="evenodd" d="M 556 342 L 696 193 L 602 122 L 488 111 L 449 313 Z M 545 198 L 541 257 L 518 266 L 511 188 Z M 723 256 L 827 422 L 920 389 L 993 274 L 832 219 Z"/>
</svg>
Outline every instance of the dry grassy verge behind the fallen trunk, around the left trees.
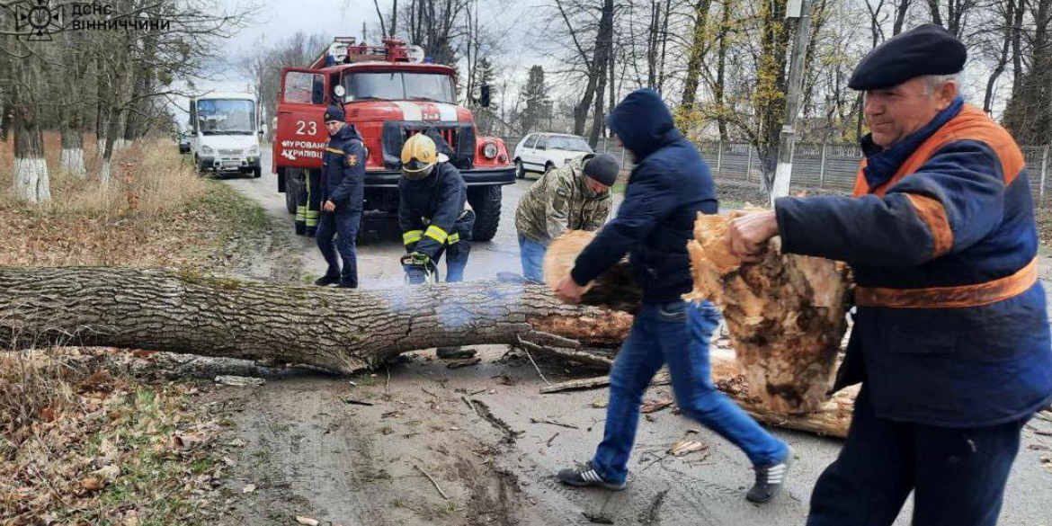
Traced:
<svg viewBox="0 0 1052 526">
<path fill-rule="evenodd" d="M 57 169 L 57 138 L 45 136 L 53 200 L 32 204 L 12 191 L 12 163 L 0 163 L 0 265 L 205 267 L 230 228 L 265 225 L 262 209 L 201 178 L 166 139 L 144 139 L 115 155 L 100 187 Z M 9 151 L 7 151 L 9 154 Z M 95 159 L 94 139 L 85 158 Z"/>
</svg>

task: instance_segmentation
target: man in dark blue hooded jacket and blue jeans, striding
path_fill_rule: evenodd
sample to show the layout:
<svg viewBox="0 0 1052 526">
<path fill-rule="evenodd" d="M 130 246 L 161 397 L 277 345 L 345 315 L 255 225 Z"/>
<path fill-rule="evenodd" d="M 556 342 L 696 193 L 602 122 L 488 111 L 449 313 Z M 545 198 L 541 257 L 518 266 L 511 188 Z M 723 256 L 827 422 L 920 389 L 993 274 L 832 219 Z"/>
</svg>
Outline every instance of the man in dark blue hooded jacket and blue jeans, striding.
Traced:
<svg viewBox="0 0 1052 526">
<path fill-rule="evenodd" d="M 590 462 L 560 471 L 559 479 L 574 486 L 625 487 L 643 392 L 667 363 L 680 409 L 745 451 L 755 469 L 746 498 L 767 502 L 782 487 L 792 450 L 712 385 L 708 344 L 720 315 L 709 303 L 699 307 L 682 299 L 692 286 L 687 241 L 694 219 L 719 207 L 708 165 L 651 89 L 628 95 L 607 125 L 636 164 L 616 218 L 582 250 L 555 292 L 579 302 L 585 285 L 630 252 L 643 305 L 610 371 L 603 442 Z"/>
</svg>

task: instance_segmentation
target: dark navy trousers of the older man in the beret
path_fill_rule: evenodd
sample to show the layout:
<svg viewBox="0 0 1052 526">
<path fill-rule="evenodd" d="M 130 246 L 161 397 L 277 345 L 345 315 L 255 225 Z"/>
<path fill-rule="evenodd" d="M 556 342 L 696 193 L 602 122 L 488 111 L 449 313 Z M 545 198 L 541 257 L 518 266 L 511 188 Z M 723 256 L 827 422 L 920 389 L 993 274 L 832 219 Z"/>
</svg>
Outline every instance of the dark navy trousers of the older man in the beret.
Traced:
<svg viewBox="0 0 1052 526">
<path fill-rule="evenodd" d="M 914 526 L 993 526 L 1026 420 L 970 429 L 893 422 L 873 414 L 864 387 L 807 524 L 890 525 L 912 490 Z"/>
</svg>

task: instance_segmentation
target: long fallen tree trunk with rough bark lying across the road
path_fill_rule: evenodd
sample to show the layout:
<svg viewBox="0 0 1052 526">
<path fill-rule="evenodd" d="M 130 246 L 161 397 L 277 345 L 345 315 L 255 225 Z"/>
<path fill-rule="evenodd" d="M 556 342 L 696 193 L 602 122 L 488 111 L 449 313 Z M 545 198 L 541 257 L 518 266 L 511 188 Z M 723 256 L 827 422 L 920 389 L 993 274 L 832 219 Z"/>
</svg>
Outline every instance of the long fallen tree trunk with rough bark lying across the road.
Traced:
<svg viewBox="0 0 1052 526">
<path fill-rule="evenodd" d="M 142 348 L 352 372 L 440 346 L 615 347 L 631 321 L 563 304 L 543 285 L 351 290 L 156 269 L 0 267 L 4 348 Z"/>
</svg>

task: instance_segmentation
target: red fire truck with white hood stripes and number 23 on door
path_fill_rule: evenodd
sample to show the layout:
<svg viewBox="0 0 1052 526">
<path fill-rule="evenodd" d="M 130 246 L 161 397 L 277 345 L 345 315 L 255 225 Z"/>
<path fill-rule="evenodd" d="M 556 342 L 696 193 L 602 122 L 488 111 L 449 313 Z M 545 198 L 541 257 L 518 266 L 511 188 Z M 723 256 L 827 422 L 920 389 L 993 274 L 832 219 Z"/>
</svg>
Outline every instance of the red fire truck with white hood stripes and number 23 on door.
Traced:
<svg viewBox="0 0 1052 526">
<path fill-rule="evenodd" d="M 325 106 L 342 103 L 368 150 L 365 210 L 398 214 L 402 144 L 427 134 L 464 176 L 477 218 L 474 239 L 493 238 L 501 186 L 514 183 L 514 166 L 504 141 L 481 137 L 471 112 L 457 104 L 457 70 L 429 63 L 423 55 L 420 47 L 394 39 L 368 46 L 339 37 L 309 67 L 282 70 L 271 165 L 290 214 L 305 191 L 307 170 L 322 167 L 328 143 Z M 484 87 L 484 106 L 488 98 Z"/>
</svg>

